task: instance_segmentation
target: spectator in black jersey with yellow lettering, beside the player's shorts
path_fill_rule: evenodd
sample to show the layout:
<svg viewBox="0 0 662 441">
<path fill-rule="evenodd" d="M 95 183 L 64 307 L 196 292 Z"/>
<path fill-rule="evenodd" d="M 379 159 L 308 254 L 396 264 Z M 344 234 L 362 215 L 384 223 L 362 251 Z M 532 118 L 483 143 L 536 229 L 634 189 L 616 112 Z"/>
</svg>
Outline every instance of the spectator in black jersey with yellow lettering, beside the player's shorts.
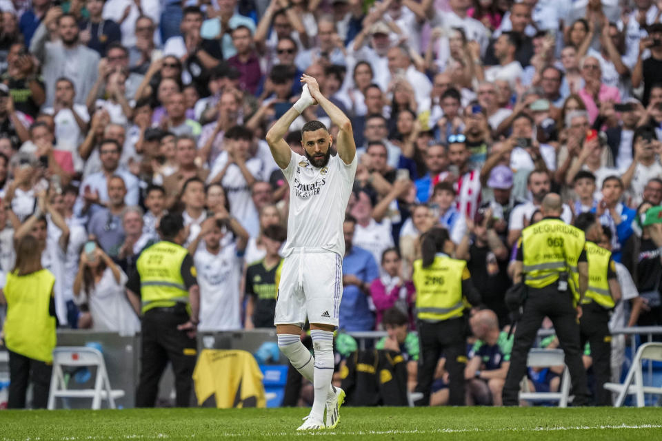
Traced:
<svg viewBox="0 0 662 441">
<path fill-rule="evenodd" d="M 271 328 L 274 325 L 278 287 L 276 273 L 282 267 L 279 254 L 287 239 L 287 230 L 281 225 L 269 225 L 262 234 L 266 254 L 263 259 L 252 263 L 246 269 L 245 329 Z"/>
</svg>

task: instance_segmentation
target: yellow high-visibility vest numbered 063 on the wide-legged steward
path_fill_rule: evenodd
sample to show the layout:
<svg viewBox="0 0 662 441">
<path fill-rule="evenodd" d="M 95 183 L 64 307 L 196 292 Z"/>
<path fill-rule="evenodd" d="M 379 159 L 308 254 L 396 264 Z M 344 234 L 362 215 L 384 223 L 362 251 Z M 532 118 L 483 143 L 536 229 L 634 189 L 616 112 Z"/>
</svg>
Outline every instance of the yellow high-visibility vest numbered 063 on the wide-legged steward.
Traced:
<svg viewBox="0 0 662 441">
<path fill-rule="evenodd" d="M 584 232 L 558 218 L 543 219 L 522 230 L 520 246 L 524 254 L 524 283 L 532 288 L 546 287 L 559 274 L 568 272 L 568 285 L 579 300 L 577 261 L 584 249 Z"/>
</svg>

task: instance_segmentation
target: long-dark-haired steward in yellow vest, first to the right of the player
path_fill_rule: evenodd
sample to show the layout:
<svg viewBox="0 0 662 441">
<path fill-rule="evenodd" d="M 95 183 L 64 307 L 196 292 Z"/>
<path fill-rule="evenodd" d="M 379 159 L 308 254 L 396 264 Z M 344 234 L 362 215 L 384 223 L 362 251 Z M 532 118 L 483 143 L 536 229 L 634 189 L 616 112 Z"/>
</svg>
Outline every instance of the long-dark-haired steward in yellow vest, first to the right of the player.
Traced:
<svg viewBox="0 0 662 441">
<path fill-rule="evenodd" d="M 423 398 L 415 403 L 417 406 L 430 404 L 430 388 L 442 353 L 446 360 L 445 369 L 450 375 L 449 404 L 465 404 L 467 348 L 463 312 L 467 302 L 479 305 L 481 296 L 471 282 L 467 263 L 450 258 L 448 254 L 452 251 L 448 230 L 435 227 L 421 237 L 423 258 L 414 260 L 412 278 L 417 292 L 417 327 L 421 347 L 416 391 L 423 393 Z"/>
</svg>

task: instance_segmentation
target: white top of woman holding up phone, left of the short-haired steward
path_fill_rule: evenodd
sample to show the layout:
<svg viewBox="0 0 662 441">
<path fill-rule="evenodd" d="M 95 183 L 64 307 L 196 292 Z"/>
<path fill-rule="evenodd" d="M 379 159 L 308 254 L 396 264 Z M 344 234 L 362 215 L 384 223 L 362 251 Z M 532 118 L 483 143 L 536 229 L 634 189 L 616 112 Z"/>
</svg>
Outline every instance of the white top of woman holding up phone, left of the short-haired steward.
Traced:
<svg viewBox="0 0 662 441">
<path fill-rule="evenodd" d="M 85 287 L 81 286 L 77 302 L 87 300 L 93 331 L 117 332 L 121 336 L 132 336 L 140 331 L 140 320 L 126 296 L 127 280 L 124 271 L 119 269 L 117 283 L 112 269 L 106 268 L 99 283 L 90 289 L 89 296 L 86 295 Z"/>
</svg>

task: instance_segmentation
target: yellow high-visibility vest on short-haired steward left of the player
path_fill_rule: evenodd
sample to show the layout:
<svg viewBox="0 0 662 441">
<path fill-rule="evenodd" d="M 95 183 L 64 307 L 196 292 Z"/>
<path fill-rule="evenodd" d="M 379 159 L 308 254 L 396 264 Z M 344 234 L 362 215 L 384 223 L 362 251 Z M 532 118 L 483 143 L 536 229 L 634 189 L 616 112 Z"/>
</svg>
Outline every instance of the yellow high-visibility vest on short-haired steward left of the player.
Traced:
<svg viewBox="0 0 662 441">
<path fill-rule="evenodd" d="M 140 274 L 143 314 L 152 308 L 172 307 L 177 302 L 188 305 L 188 289 L 181 276 L 186 254 L 187 249 L 168 240 L 161 240 L 140 254 L 136 269 Z"/>
</svg>

